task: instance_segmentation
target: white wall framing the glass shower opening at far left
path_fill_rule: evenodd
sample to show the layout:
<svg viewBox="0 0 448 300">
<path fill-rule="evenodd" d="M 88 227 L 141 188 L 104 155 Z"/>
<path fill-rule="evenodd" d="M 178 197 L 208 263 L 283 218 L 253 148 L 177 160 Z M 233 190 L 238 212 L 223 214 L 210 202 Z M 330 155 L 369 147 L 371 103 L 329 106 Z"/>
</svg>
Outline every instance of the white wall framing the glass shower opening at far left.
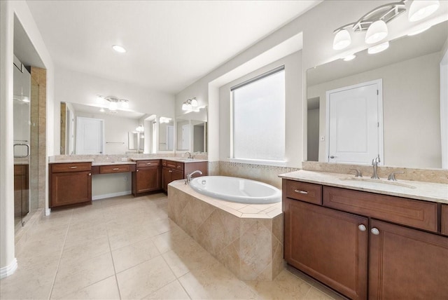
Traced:
<svg viewBox="0 0 448 300">
<path fill-rule="evenodd" d="M 54 68 L 41 34 L 25 1 L 0 1 L 0 275 L 15 271 L 13 170 L 13 23 L 22 23 L 47 69 L 47 156 L 54 144 Z M 59 113 L 58 113 L 59 114 Z M 58 145 L 59 146 L 59 145 Z M 48 158 L 47 158 L 48 162 Z M 47 171 L 48 172 L 48 171 Z M 45 186 L 48 207 L 48 186 Z"/>
</svg>

